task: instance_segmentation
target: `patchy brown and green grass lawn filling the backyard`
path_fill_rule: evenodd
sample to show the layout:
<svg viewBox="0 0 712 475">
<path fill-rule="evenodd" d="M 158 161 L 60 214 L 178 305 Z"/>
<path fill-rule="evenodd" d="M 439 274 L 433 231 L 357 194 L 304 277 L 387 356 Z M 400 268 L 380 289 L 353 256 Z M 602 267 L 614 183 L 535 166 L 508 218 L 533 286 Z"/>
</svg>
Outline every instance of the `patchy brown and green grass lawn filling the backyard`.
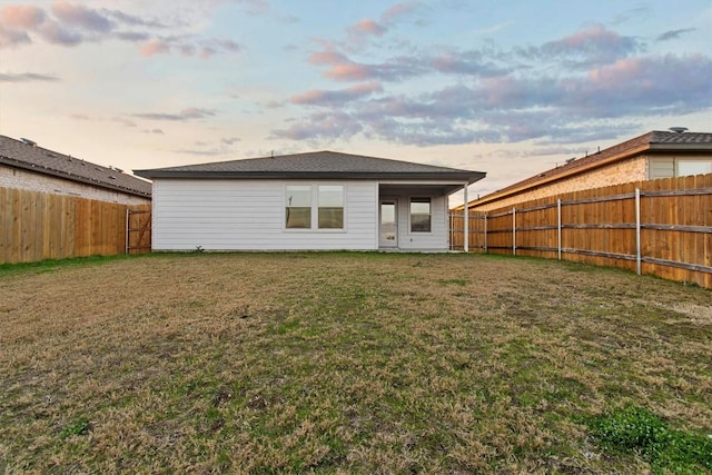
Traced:
<svg viewBox="0 0 712 475">
<path fill-rule="evenodd" d="M 0 474 L 709 473 L 712 291 L 479 255 L 0 268 Z"/>
</svg>

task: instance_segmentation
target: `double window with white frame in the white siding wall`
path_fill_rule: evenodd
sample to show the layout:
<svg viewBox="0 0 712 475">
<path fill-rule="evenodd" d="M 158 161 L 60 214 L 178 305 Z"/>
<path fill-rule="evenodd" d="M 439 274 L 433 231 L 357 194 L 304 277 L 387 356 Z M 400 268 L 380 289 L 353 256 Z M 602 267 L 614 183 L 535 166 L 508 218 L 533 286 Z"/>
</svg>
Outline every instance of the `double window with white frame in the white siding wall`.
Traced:
<svg viewBox="0 0 712 475">
<path fill-rule="evenodd" d="M 285 227 L 287 229 L 344 229 L 344 186 L 287 185 L 285 187 Z"/>
</svg>

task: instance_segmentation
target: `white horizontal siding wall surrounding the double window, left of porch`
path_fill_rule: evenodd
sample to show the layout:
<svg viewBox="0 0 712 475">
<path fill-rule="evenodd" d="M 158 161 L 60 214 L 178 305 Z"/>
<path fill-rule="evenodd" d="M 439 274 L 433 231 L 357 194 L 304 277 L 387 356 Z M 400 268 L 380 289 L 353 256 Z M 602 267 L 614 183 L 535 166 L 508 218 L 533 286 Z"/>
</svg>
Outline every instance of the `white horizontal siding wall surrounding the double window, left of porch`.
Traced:
<svg viewBox="0 0 712 475">
<path fill-rule="evenodd" d="M 285 229 L 285 185 L 280 180 L 154 181 L 156 250 L 338 250 L 377 249 L 378 185 L 345 187 L 345 229 Z"/>
</svg>

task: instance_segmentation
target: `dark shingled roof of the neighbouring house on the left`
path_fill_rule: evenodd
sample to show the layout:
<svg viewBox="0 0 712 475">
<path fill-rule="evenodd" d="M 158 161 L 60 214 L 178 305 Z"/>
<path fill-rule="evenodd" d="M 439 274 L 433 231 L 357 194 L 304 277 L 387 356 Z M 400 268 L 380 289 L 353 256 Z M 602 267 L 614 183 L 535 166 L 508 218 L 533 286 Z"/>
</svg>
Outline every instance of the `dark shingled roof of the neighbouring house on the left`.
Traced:
<svg viewBox="0 0 712 475">
<path fill-rule="evenodd" d="M 128 195 L 151 197 L 151 184 L 146 180 L 117 168 L 102 167 L 39 147 L 28 139 L 20 141 L 0 136 L 0 164 Z"/>
</svg>

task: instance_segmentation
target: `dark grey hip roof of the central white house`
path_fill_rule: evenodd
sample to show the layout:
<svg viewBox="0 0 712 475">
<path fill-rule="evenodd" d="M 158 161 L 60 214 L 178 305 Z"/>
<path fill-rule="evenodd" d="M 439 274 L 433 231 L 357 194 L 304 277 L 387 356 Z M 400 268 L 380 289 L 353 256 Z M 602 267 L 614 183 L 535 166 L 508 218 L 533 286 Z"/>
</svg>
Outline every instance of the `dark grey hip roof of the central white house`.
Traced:
<svg viewBox="0 0 712 475">
<path fill-rule="evenodd" d="M 181 167 L 135 170 L 146 178 L 269 178 L 269 179 L 447 179 L 481 180 L 482 171 L 435 167 L 336 151 L 314 151 Z"/>
</svg>

